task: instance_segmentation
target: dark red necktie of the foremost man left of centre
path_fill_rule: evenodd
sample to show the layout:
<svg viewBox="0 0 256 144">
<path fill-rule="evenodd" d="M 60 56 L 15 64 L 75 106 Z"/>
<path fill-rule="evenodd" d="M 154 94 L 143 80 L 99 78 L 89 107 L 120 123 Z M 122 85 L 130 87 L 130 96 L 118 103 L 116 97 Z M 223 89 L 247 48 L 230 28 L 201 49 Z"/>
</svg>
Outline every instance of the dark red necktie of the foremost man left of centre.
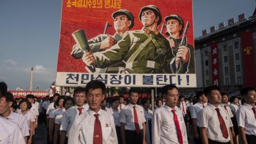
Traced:
<svg viewBox="0 0 256 144">
<path fill-rule="evenodd" d="M 94 132 L 93 132 L 93 144 L 102 144 L 102 131 L 99 120 L 99 114 L 94 114 Z"/>
</svg>

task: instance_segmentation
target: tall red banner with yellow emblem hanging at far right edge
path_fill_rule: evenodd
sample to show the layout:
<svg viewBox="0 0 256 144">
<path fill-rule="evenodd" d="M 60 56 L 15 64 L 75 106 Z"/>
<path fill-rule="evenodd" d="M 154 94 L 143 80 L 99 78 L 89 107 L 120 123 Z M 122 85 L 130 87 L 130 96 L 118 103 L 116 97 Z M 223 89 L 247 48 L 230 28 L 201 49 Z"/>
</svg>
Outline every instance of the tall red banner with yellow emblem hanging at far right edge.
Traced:
<svg viewBox="0 0 256 144">
<path fill-rule="evenodd" d="M 254 62 L 254 48 L 252 40 L 252 31 L 244 31 L 241 33 L 241 43 L 243 52 L 243 73 L 244 85 L 256 86 L 256 67 Z"/>
</svg>

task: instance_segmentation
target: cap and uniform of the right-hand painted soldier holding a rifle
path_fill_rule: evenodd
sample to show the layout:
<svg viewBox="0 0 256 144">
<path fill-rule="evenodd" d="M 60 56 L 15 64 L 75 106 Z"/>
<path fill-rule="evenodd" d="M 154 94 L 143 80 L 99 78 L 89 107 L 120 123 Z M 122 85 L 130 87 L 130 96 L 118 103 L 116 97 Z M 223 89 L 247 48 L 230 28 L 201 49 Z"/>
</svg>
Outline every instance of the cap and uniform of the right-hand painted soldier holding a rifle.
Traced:
<svg viewBox="0 0 256 144">
<path fill-rule="evenodd" d="M 183 31 L 183 27 L 184 27 L 184 22 L 182 20 L 181 17 L 179 17 L 179 15 L 177 14 L 171 14 L 167 17 L 164 18 L 165 22 L 167 22 L 169 19 L 177 19 L 180 23 L 180 25 L 182 25 L 182 28 L 180 30 L 180 35 L 182 34 Z M 166 35 L 170 35 L 167 31 L 166 31 Z M 174 55 L 174 57 L 176 57 L 178 49 L 179 49 L 179 45 L 181 43 L 181 38 L 173 38 L 171 36 L 168 37 L 168 39 L 173 39 L 173 41 L 175 42 L 175 48 L 172 48 L 172 54 Z M 171 64 L 171 71 L 174 74 L 195 74 L 196 70 L 195 70 L 195 49 L 193 46 L 189 45 L 186 42 L 186 47 L 188 47 L 189 49 L 189 60 L 185 63 L 182 60 L 180 60 L 179 66 L 178 68 L 176 68 L 175 66 L 175 59 L 172 59 L 170 61 Z"/>
</svg>

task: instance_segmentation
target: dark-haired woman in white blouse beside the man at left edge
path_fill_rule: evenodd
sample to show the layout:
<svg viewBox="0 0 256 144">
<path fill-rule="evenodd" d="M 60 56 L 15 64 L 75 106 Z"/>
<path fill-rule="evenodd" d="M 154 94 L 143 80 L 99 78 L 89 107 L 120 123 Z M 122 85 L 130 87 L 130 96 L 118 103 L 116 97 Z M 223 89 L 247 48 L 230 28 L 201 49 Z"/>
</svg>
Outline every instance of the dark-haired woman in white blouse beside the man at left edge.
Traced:
<svg viewBox="0 0 256 144">
<path fill-rule="evenodd" d="M 29 109 L 32 107 L 31 103 L 27 99 L 22 99 L 19 102 L 19 108 L 21 111 L 19 114 L 22 114 L 27 118 L 28 121 L 28 127 L 29 127 L 29 133 L 30 135 L 28 136 L 28 144 L 32 143 L 32 138 L 33 138 L 33 131 L 34 131 L 34 123 L 35 123 L 35 116 L 34 113 L 32 113 Z"/>
</svg>

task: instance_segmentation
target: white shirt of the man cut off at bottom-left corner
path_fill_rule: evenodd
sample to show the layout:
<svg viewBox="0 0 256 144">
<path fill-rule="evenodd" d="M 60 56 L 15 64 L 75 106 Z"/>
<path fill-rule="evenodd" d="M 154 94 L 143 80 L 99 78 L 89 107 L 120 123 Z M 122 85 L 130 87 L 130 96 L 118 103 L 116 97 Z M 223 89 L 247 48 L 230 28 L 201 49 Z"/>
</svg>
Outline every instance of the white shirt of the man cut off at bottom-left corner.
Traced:
<svg viewBox="0 0 256 144">
<path fill-rule="evenodd" d="M 0 143 L 1 144 L 25 144 L 24 137 L 17 123 L 0 117 Z"/>
</svg>

